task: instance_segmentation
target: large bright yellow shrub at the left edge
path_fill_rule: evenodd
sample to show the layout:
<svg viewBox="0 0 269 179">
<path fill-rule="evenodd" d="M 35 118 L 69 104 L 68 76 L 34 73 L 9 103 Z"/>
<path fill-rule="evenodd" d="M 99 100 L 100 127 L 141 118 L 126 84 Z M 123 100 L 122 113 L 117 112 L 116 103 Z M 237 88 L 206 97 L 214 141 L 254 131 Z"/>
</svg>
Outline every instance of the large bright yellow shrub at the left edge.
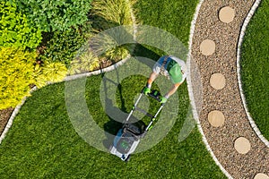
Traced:
<svg viewBox="0 0 269 179">
<path fill-rule="evenodd" d="M 16 107 L 30 95 L 36 54 L 15 47 L 0 47 L 0 109 Z"/>
</svg>

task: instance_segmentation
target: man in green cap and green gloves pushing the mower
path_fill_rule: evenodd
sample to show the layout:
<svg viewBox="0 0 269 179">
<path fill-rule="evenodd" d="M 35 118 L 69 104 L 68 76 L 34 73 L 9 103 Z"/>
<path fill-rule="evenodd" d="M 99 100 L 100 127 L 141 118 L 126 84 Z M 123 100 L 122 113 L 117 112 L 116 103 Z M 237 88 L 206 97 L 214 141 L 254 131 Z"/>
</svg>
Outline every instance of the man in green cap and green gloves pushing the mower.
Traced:
<svg viewBox="0 0 269 179">
<path fill-rule="evenodd" d="M 161 103 L 165 103 L 167 99 L 178 90 L 180 84 L 182 84 L 187 77 L 187 66 L 185 62 L 173 55 L 161 56 L 156 64 L 154 64 L 152 71 L 153 72 L 143 89 L 145 95 L 148 95 L 151 92 L 152 82 L 160 73 L 173 83 L 170 90 L 161 97 Z"/>
</svg>

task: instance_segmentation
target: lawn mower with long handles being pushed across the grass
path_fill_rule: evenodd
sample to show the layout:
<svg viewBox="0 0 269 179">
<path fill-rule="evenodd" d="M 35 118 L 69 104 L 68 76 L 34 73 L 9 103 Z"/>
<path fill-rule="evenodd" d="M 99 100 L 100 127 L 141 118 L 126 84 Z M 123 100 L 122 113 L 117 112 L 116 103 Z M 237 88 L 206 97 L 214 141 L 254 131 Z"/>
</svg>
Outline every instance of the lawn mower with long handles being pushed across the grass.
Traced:
<svg viewBox="0 0 269 179">
<path fill-rule="evenodd" d="M 121 158 L 123 161 L 126 162 L 129 161 L 130 155 L 134 152 L 140 140 L 152 128 L 153 122 L 156 120 L 157 115 L 159 115 L 159 113 L 161 112 L 161 108 L 164 106 L 164 104 L 161 104 L 161 107 L 158 109 L 155 115 L 149 114 L 142 108 L 137 107 L 143 95 L 144 94 L 142 90 L 139 97 L 134 103 L 134 107 L 124 121 L 123 127 L 118 130 L 117 135 L 114 138 L 113 144 L 109 148 L 111 154 L 116 155 L 118 158 Z M 161 94 L 158 90 L 152 90 L 152 92 L 149 93 L 148 96 L 161 102 Z M 149 116 L 151 118 L 151 122 L 148 125 L 145 125 L 141 120 L 134 120 L 133 113 L 135 110 Z M 130 120 L 131 118 L 132 120 Z M 131 123 L 133 120 L 136 122 Z"/>
</svg>

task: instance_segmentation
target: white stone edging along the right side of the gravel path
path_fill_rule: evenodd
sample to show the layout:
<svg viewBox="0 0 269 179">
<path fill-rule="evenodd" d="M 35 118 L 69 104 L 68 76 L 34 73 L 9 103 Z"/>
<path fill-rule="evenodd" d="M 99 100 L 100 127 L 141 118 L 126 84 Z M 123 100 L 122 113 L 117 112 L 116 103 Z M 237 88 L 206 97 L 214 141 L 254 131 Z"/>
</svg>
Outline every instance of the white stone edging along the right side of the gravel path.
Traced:
<svg viewBox="0 0 269 179">
<path fill-rule="evenodd" d="M 265 137 L 263 136 L 263 134 L 260 132 L 260 130 L 257 128 L 255 121 L 252 119 L 248 109 L 247 109 L 247 101 L 242 89 L 242 82 L 241 82 L 241 75 L 240 75 L 240 53 L 241 53 L 241 45 L 243 42 L 243 38 L 245 36 L 245 32 L 247 30 L 247 24 L 248 22 L 251 20 L 252 16 L 254 15 L 254 13 L 256 12 L 256 8 L 258 7 L 258 5 L 261 3 L 261 0 L 256 0 L 255 4 L 253 4 L 251 10 L 249 11 L 249 13 L 247 13 L 247 18 L 245 19 L 243 26 L 241 28 L 241 32 L 240 32 L 240 36 L 239 36 L 239 44 L 238 44 L 238 51 L 237 51 L 237 72 L 238 72 L 238 82 L 239 82 L 239 90 L 240 90 L 240 96 L 243 102 L 243 106 L 245 108 L 246 114 L 247 114 L 247 119 L 249 121 L 249 124 L 251 124 L 251 127 L 253 128 L 253 130 L 256 132 L 256 135 L 258 136 L 258 138 L 260 138 L 261 141 L 263 141 L 265 143 L 265 145 L 269 148 L 269 141 L 267 141 L 265 139 Z"/>
</svg>

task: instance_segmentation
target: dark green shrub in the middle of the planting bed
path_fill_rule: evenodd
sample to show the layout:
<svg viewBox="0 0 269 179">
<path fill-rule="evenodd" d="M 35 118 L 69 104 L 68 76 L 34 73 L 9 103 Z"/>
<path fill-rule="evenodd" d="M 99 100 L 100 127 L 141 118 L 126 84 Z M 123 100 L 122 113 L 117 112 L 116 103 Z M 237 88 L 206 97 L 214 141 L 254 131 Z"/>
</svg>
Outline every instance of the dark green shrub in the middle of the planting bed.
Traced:
<svg viewBox="0 0 269 179">
<path fill-rule="evenodd" d="M 84 45 L 91 31 L 91 24 L 87 22 L 79 29 L 56 30 L 46 44 L 44 53 L 39 55 L 42 61 L 61 62 L 67 66 L 73 60 L 76 52 Z"/>
</svg>

